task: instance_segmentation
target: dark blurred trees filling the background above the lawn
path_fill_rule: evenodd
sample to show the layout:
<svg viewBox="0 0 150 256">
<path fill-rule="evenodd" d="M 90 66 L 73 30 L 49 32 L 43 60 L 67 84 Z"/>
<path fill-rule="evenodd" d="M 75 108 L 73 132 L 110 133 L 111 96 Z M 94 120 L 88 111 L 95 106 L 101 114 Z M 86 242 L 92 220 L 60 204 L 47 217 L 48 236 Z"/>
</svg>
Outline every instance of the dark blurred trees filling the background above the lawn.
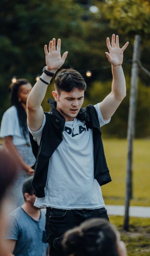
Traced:
<svg viewBox="0 0 150 256">
<path fill-rule="evenodd" d="M 0 120 L 10 107 L 8 86 L 11 79 L 28 78 L 32 85 L 45 65 L 44 45 L 53 37 L 61 38 L 62 53 L 69 54 L 63 67 L 74 67 L 87 82 L 84 105 L 102 101 L 111 91 L 111 65 L 105 52 L 106 38 L 119 35 L 120 47 L 126 41 L 123 70 L 127 96 L 103 129 L 103 136 L 126 138 L 133 40 L 142 37 L 141 62 L 150 71 L 150 6 L 140 0 L 3 0 L 0 32 Z M 146 5 L 147 4 L 147 5 Z M 86 77 L 86 71 L 92 76 Z M 47 90 L 43 108 L 49 111 L 53 83 Z M 139 73 L 136 138 L 150 137 L 150 78 Z"/>
</svg>

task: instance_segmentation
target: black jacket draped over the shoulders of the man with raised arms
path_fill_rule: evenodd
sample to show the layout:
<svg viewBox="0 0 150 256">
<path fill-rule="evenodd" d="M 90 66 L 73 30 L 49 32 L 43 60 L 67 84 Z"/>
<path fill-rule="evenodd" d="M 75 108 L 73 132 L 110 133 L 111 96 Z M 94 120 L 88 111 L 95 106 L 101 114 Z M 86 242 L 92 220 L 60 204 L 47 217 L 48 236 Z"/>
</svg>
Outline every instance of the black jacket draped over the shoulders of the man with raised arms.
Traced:
<svg viewBox="0 0 150 256">
<path fill-rule="evenodd" d="M 32 169 L 35 170 L 32 181 L 34 194 L 36 197 L 45 197 L 44 188 L 47 181 L 49 159 L 59 144 L 62 142 L 62 132 L 65 127 L 65 118 L 56 110 L 56 102 L 51 98 L 47 101 L 51 106 L 49 113 L 44 112 L 46 123 L 43 127 L 42 137 L 39 146 L 29 133 L 32 152 L 36 158 Z M 93 129 L 93 147 L 94 147 L 94 178 L 102 186 L 111 181 L 107 167 L 99 119 L 96 109 L 93 105 L 81 108 L 77 118 L 85 121 L 86 127 Z"/>
</svg>

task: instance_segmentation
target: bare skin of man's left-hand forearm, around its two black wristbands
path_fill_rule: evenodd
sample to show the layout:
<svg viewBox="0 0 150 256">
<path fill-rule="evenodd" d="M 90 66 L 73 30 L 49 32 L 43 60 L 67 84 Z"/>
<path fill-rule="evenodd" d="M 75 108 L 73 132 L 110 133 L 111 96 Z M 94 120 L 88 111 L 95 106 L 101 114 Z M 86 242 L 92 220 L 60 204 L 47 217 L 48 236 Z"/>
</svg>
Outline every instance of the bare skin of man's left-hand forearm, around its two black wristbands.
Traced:
<svg viewBox="0 0 150 256">
<path fill-rule="evenodd" d="M 55 73 L 55 71 L 51 71 L 52 73 Z M 41 78 L 45 82 L 50 82 L 52 77 L 47 76 L 45 73 L 41 75 Z M 36 82 L 34 87 L 32 88 L 28 100 L 27 100 L 27 108 L 29 109 L 38 109 L 45 97 L 46 90 L 47 90 L 47 84 L 43 83 L 40 79 Z"/>
</svg>

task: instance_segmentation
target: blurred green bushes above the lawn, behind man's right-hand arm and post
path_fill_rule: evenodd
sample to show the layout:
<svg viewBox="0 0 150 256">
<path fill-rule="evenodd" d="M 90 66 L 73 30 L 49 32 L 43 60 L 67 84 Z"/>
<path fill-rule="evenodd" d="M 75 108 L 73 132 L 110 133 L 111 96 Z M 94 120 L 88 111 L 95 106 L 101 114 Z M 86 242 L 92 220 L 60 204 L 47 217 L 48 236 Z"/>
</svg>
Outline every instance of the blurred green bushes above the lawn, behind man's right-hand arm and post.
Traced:
<svg viewBox="0 0 150 256">
<path fill-rule="evenodd" d="M 92 83 L 89 91 L 89 101 L 91 104 L 103 101 L 103 99 L 111 92 L 111 81 Z M 130 95 L 130 77 L 126 75 L 126 97 L 109 124 L 102 127 L 102 133 L 105 136 L 126 138 L 129 112 L 129 95 Z M 136 134 L 137 138 L 150 136 L 149 120 L 150 108 L 150 87 L 145 86 L 141 79 L 138 80 L 138 99 L 137 99 L 137 114 L 136 114 Z"/>
</svg>

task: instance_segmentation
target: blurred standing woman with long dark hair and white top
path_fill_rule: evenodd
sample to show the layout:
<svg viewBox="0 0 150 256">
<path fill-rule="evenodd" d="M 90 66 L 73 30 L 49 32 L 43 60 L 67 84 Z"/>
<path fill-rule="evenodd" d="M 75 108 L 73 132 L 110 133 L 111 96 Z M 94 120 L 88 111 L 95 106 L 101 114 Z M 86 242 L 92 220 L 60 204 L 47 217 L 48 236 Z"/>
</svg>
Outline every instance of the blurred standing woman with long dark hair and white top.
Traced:
<svg viewBox="0 0 150 256">
<path fill-rule="evenodd" d="M 7 149 L 21 167 L 11 190 L 15 208 L 24 202 L 21 192 L 23 182 L 34 173 L 31 166 L 35 157 L 30 144 L 26 113 L 26 102 L 31 90 L 32 86 L 27 79 L 18 79 L 10 85 L 11 107 L 2 117 L 0 130 L 0 137 L 5 138 Z"/>
</svg>

